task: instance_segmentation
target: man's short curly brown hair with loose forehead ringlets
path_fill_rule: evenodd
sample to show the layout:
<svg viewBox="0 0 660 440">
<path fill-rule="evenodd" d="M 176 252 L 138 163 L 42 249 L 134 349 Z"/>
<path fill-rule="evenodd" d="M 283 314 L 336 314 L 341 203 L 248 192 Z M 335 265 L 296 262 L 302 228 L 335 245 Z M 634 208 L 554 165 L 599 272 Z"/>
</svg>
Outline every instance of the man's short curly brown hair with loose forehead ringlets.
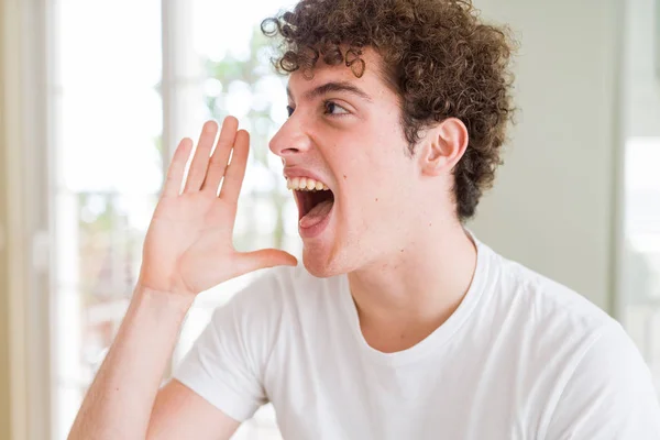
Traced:
<svg viewBox="0 0 660 440">
<path fill-rule="evenodd" d="M 470 140 L 453 170 L 453 196 L 461 221 L 474 216 L 514 112 L 507 28 L 483 23 L 470 0 L 301 0 L 264 20 L 262 31 L 282 37 L 273 62 L 284 74 L 310 77 L 321 58 L 361 77 L 363 48 L 375 50 L 380 74 L 400 98 L 410 156 L 425 128 L 463 121 Z"/>
</svg>

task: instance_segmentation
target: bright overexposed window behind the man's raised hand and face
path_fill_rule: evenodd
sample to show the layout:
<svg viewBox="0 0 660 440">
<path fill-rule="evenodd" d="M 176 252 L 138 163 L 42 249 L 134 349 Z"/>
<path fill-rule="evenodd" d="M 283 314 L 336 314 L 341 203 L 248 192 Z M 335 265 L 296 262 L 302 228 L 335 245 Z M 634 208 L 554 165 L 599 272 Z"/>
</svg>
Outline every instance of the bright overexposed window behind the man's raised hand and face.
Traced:
<svg viewBox="0 0 660 440">
<path fill-rule="evenodd" d="M 169 156 L 207 119 L 237 116 L 252 152 L 235 226 L 243 250 L 299 252 L 297 211 L 267 141 L 286 119 L 261 20 L 286 3 L 52 0 L 54 439 L 65 439 L 128 307 Z M 212 310 L 253 275 L 199 296 L 178 362 Z M 263 408 L 237 439 L 277 439 Z"/>
</svg>

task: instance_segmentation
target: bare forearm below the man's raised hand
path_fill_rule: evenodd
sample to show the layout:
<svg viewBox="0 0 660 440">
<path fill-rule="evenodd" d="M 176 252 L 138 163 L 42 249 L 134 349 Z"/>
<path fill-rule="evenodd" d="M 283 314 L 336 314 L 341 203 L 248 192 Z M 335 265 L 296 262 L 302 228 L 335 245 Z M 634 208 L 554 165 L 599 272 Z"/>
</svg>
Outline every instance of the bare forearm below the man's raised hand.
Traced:
<svg viewBox="0 0 660 440">
<path fill-rule="evenodd" d="M 144 439 L 191 296 L 138 287 L 69 440 Z"/>
</svg>

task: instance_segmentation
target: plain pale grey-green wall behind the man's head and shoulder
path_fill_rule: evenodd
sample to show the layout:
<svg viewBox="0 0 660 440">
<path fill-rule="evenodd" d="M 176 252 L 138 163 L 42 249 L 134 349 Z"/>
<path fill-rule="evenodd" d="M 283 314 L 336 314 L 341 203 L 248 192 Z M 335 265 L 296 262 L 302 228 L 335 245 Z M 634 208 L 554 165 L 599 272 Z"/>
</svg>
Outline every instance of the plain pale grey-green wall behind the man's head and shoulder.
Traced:
<svg viewBox="0 0 660 440">
<path fill-rule="evenodd" d="M 609 309 L 617 123 L 616 0 L 475 0 L 510 23 L 518 124 L 471 228 L 507 257 Z"/>
</svg>

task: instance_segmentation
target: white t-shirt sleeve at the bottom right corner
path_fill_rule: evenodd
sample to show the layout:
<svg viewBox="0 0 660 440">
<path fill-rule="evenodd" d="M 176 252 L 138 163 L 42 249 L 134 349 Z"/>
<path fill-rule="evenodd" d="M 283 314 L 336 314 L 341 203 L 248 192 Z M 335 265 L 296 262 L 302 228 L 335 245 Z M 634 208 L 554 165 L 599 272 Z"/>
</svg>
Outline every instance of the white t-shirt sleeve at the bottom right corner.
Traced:
<svg viewBox="0 0 660 440">
<path fill-rule="evenodd" d="M 576 365 L 546 439 L 660 440 L 650 371 L 618 323 L 608 324 Z"/>
</svg>

